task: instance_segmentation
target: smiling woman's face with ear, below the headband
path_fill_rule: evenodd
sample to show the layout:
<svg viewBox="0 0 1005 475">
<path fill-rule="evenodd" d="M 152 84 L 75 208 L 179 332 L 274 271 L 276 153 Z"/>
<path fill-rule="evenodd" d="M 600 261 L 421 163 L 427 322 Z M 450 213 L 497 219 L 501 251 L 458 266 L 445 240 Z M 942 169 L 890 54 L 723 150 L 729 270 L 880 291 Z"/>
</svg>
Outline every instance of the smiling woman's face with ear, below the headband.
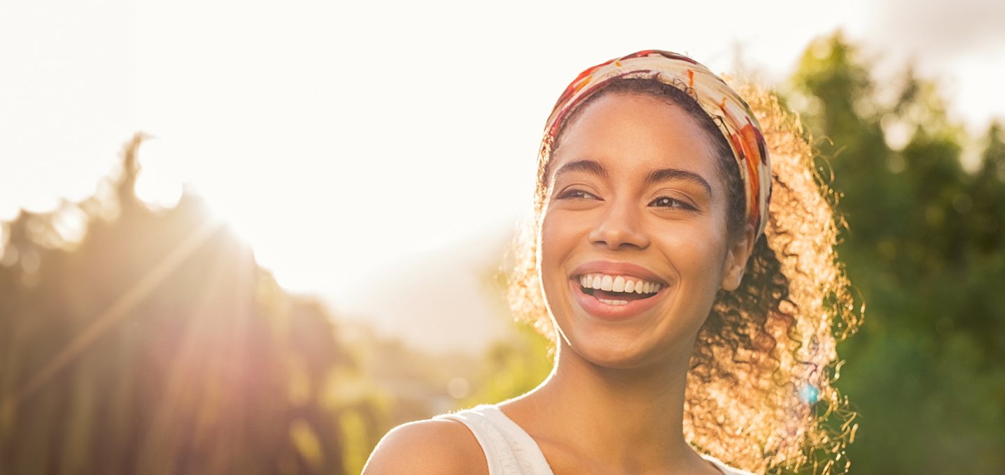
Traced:
<svg viewBox="0 0 1005 475">
<path fill-rule="evenodd" d="M 620 94 L 566 127 L 540 270 L 563 343 L 583 358 L 621 368 L 689 358 L 717 291 L 739 285 L 749 246 L 729 239 L 706 134 L 678 107 Z"/>
</svg>

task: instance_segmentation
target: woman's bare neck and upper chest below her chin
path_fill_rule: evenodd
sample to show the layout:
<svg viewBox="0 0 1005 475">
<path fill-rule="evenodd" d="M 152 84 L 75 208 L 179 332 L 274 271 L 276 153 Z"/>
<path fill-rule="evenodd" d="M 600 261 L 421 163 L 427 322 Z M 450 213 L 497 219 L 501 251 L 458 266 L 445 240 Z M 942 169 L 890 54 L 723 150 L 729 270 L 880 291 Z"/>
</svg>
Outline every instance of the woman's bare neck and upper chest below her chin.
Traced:
<svg viewBox="0 0 1005 475">
<path fill-rule="evenodd" d="M 689 352 L 615 369 L 561 344 L 548 380 L 500 406 L 557 473 L 565 461 L 612 473 L 708 471 L 682 434 Z"/>
</svg>

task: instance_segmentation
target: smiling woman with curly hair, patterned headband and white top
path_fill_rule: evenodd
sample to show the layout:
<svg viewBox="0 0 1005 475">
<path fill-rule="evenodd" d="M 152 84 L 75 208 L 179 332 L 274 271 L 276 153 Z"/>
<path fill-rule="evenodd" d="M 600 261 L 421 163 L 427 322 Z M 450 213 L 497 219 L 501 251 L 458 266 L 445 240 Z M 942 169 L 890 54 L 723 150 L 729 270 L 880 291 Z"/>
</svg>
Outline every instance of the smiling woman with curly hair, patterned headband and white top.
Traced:
<svg viewBox="0 0 1005 475">
<path fill-rule="evenodd" d="M 818 448 L 831 471 L 831 325 L 855 324 L 851 299 L 809 147 L 752 96 L 760 117 L 666 51 L 583 71 L 545 129 L 511 283 L 555 369 L 515 400 L 395 429 L 364 473 L 742 474 Z"/>
</svg>

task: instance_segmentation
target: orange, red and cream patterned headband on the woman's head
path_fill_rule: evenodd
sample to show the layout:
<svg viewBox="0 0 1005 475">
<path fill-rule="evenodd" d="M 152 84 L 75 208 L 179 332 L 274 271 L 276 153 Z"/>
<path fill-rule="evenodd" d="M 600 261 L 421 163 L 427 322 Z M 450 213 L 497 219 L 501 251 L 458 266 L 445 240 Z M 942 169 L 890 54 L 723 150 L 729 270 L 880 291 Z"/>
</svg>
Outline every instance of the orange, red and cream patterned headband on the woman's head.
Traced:
<svg viewBox="0 0 1005 475">
<path fill-rule="evenodd" d="M 586 98 L 602 90 L 613 78 L 649 77 L 690 89 L 701 109 L 716 122 L 740 167 L 747 196 L 747 222 L 764 232 L 771 199 L 771 160 L 754 113 L 726 82 L 693 59 L 669 51 L 648 49 L 611 59 L 580 72 L 562 96 L 545 126 L 545 141 L 551 143 L 563 119 Z"/>
</svg>

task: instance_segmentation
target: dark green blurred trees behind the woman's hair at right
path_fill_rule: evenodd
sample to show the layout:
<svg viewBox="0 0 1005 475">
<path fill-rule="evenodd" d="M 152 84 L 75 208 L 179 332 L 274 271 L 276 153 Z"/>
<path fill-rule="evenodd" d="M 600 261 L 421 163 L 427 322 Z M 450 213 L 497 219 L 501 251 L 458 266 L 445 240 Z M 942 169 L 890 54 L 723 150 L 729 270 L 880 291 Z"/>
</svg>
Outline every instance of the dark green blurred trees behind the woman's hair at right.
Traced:
<svg viewBox="0 0 1005 475">
<path fill-rule="evenodd" d="M 860 415 L 852 473 L 991 474 L 1005 467 L 1005 145 L 975 173 L 934 85 L 904 74 L 893 104 L 840 33 L 793 77 L 847 223 L 838 247 L 867 305 L 839 346 Z M 907 144 L 903 144 L 903 139 Z M 894 150 L 891 145 L 899 150 Z M 902 146 L 902 149 L 900 148 Z"/>
</svg>

